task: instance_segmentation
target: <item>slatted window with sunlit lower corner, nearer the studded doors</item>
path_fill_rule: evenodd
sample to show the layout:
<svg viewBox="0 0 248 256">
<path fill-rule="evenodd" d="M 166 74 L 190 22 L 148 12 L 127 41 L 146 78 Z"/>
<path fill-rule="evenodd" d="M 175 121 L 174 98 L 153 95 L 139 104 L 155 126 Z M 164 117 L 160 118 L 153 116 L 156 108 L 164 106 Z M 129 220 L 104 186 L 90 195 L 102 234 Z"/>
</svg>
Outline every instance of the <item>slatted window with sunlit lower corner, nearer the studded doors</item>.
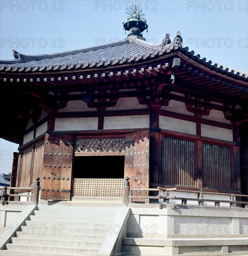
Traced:
<svg viewBox="0 0 248 256">
<path fill-rule="evenodd" d="M 194 141 L 163 138 L 163 182 L 195 186 Z"/>
</svg>

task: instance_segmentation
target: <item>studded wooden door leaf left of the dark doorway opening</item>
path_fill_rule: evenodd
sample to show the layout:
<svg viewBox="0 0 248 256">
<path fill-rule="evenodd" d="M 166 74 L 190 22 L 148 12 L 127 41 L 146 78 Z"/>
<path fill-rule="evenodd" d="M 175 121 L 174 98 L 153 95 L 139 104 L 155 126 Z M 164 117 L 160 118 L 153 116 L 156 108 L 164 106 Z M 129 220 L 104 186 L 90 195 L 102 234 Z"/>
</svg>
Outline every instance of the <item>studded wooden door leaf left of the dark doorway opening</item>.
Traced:
<svg viewBox="0 0 248 256">
<path fill-rule="evenodd" d="M 45 135 L 41 199 L 70 200 L 73 149 L 73 135 Z"/>
</svg>

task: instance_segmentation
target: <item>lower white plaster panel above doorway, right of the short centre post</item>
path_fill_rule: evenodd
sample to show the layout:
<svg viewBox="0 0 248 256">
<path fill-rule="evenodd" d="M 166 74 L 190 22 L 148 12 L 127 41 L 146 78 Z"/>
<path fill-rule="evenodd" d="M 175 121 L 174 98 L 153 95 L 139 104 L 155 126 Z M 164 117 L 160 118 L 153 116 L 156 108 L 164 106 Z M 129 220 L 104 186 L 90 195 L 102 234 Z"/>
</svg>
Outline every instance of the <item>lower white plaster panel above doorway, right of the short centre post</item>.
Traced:
<svg viewBox="0 0 248 256">
<path fill-rule="evenodd" d="M 104 126 L 107 129 L 149 128 L 149 115 L 126 115 L 104 117 Z"/>
</svg>

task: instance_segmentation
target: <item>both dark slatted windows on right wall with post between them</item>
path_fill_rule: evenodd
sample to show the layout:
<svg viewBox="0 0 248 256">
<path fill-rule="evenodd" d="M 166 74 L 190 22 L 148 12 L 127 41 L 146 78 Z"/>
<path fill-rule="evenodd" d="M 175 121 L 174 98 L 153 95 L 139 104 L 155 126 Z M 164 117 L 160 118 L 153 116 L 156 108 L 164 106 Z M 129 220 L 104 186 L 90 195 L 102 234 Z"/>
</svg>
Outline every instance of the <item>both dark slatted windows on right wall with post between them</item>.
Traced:
<svg viewBox="0 0 248 256">
<path fill-rule="evenodd" d="M 234 148 L 235 146 L 217 145 L 200 139 L 164 135 L 161 183 L 239 190 L 239 181 L 236 181 L 239 170 L 235 165 L 237 156 Z"/>
</svg>

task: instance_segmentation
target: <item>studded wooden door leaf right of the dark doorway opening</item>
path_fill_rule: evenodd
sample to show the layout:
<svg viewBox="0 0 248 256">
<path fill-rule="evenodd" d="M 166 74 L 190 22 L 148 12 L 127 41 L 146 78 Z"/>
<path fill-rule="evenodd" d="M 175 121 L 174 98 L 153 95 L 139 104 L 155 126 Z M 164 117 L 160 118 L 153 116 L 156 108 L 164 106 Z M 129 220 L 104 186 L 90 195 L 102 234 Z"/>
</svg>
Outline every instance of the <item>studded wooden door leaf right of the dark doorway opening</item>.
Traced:
<svg viewBox="0 0 248 256">
<path fill-rule="evenodd" d="M 149 131 L 126 135 L 125 176 L 130 178 L 130 188 L 149 188 Z M 133 195 L 148 195 L 135 191 Z"/>
</svg>

